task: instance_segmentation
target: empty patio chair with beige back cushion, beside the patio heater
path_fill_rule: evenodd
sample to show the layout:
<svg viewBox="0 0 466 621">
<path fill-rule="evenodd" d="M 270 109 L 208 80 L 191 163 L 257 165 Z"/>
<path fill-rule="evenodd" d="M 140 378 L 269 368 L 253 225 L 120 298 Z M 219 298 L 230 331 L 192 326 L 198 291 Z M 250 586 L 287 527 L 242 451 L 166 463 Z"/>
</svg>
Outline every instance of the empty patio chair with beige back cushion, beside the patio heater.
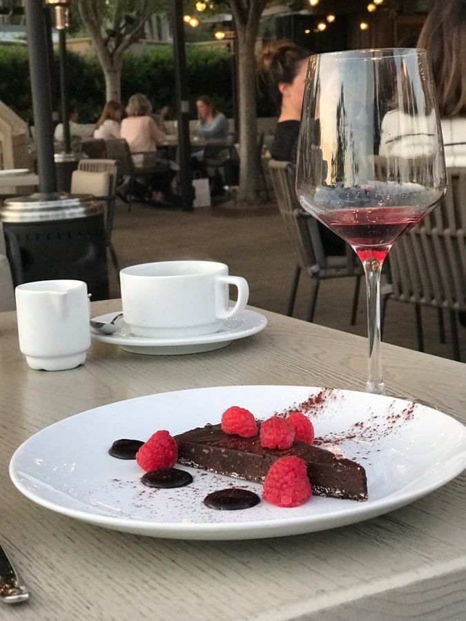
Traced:
<svg viewBox="0 0 466 621">
<path fill-rule="evenodd" d="M 118 162 L 115 159 L 80 159 L 77 170 L 72 172 L 71 193 L 93 194 L 106 205 L 105 242 L 115 270 L 119 265 L 112 244 L 113 218 L 117 199 Z"/>
</svg>

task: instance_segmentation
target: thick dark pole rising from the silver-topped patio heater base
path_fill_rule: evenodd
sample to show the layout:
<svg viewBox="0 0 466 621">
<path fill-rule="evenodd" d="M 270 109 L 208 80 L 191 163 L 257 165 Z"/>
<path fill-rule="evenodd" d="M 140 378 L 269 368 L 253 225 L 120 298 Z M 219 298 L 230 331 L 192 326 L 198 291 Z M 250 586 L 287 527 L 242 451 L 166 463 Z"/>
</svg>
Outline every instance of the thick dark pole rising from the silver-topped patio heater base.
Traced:
<svg viewBox="0 0 466 621">
<path fill-rule="evenodd" d="M 25 14 L 39 191 L 44 195 L 56 195 L 57 174 L 53 153 L 52 94 L 42 3 L 37 0 L 26 0 Z"/>
</svg>

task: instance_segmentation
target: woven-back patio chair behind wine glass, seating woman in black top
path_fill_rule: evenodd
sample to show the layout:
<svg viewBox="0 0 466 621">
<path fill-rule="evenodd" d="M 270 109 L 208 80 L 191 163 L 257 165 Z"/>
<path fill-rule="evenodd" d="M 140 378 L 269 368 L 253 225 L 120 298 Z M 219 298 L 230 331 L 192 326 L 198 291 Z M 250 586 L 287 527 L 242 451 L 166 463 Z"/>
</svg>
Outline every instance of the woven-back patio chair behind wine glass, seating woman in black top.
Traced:
<svg viewBox="0 0 466 621">
<path fill-rule="evenodd" d="M 356 277 L 353 304 L 351 307 L 351 325 L 356 324 L 362 265 L 351 248 L 346 255 L 326 255 L 320 237 L 317 220 L 305 212 L 295 195 L 295 167 L 287 161 L 269 161 L 273 190 L 278 208 L 282 215 L 296 257 L 296 269 L 291 285 L 287 315 L 293 315 L 296 292 L 301 273 L 312 282 L 311 300 L 307 320 L 313 321 L 320 282 L 329 278 Z"/>
</svg>

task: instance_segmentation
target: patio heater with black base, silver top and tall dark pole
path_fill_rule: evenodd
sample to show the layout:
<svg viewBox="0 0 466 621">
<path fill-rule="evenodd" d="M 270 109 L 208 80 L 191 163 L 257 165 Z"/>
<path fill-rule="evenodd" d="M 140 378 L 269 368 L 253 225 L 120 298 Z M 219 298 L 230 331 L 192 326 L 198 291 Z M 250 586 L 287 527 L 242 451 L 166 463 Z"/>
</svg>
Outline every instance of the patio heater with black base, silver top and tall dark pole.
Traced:
<svg viewBox="0 0 466 621">
<path fill-rule="evenodd" d="M 57 188 L 45 19 L 49 8 L 38 0 L 25 0 L 24 5 L 39 192 L 6 199 L 0 210 L 3 228 L 12 233 L 8 243 L 21 253 L 23 282 L 84 280 L 92 299 L 107 299 L 104 206 L 92 195 L 70 195 Z"/>
</svg>

